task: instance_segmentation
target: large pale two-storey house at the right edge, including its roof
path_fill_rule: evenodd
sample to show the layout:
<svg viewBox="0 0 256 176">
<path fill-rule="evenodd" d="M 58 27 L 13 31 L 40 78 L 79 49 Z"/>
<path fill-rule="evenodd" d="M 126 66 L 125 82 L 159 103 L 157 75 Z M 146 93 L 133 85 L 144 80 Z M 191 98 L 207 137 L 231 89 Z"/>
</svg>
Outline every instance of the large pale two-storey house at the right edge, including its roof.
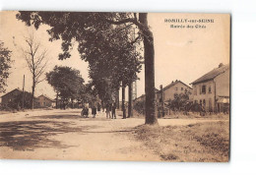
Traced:
<svg viewBox="0 0 256 176">
<path fill-rule="evenodd" d="M 193 101 L 202 104 L 206 111 L 229 110 L 229 65 L 220 64 L 191 85 Z"/>
</svg>

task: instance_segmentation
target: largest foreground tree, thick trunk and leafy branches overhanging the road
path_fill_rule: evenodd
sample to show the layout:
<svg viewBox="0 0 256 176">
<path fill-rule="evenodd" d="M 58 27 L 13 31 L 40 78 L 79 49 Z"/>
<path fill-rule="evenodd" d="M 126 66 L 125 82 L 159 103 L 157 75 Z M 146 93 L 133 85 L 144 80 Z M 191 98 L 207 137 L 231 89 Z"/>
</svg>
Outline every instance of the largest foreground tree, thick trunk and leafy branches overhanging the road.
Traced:
<svg viewBox="0 0 256 176">
<path fill-rule="evenodd" d="M 139 18 L 137 17 L 139 16 Z M 133 26 L 138 29 L 137 39 L 144 42 L 145 58 L 145 91 L 146 91 L 146 124 L 157 124 L 155 102 L 155 52 L 154 37 L 148 26 L 147 13 L 71 13 L 71 12 L 20 12 L 17 18 L 35 29 L 41 24 L 51 27 L 48 33 L 50 40 L 62 39 L 63 53 L 60 59 L 69 58 L 72 49 L 72 40 L 78 41 L 78 50 L 81 58 L 88 61 L 88 55 L 96 40 L 100 42 L 100 35 L 116 27 Z M 118 32 L 116 33 L 118 34 Z M 98 50 L 98 52 L 101 52 Z"/>
</svg>

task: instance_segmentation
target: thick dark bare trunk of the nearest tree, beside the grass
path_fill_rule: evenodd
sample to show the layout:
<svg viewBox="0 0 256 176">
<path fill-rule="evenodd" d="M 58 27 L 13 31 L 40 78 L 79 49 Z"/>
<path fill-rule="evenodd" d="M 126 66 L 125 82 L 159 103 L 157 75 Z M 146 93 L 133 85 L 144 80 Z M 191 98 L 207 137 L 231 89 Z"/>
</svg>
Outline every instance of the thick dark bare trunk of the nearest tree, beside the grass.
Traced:
<svg viewBox="0 0 256 176">
<path fill-rule="evenodd" d="M 144 58 L 145 58 L 145 93 L 146 93 L 146 122 L 145 124 L 158 124 L 155 96 L 155 51 L 154 37 L 148 27 L 148 14 L 140 13 L 139 20 L 144 25 Z"/>
</svg>

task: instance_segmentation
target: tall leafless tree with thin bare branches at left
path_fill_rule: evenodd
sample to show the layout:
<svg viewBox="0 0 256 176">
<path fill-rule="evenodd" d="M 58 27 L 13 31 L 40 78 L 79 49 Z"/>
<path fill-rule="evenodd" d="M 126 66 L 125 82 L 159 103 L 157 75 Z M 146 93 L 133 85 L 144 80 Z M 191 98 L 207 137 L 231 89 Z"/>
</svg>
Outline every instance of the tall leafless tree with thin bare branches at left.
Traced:
<svg viewBox="0 0 256 176">
<path fill-rule="evenodd" d="M 36 41 L 33 32 L 25 37 L 26 46 L 22 47 L 23 56 L 32 73 L 32 109 L 34 105 L 35 87 L 45 80 L 44 73 L 47 65 L 47 50 L 42 48 L 40 42 Z"/>
</svg>

